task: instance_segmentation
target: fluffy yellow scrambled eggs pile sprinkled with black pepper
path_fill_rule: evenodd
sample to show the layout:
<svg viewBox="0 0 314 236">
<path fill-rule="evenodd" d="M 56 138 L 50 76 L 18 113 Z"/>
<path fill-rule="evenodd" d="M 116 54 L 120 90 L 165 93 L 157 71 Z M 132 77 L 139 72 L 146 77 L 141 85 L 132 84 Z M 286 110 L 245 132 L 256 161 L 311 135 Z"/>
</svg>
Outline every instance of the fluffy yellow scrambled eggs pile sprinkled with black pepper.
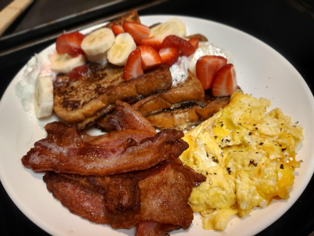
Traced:
<svg viewBox="0 0 314 236">
<path fill-rule="evenodd" d="M 236 92 L 229 105 L 185 133 L 190 147 L 180 159 L 207 177 L 189 198 L 204 229 L 223 230 L 230 216 L 289 197 L 302 128 L 279 108 L 266 113 L 268 106 L 268 99 Z"/>
</svg>

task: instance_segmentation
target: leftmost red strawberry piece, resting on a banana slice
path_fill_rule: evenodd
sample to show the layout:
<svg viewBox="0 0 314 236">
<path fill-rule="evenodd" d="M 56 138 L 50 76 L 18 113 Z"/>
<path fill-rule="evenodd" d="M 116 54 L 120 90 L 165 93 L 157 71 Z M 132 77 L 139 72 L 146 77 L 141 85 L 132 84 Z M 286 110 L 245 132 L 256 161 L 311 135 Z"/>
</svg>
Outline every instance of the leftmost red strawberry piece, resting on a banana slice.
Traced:
<svg viewBox="0 0 314 236">
<path fill-rule="evenodd" d="M 68 53 L 72 57 L 77 57 L 79 54 L 84 54 L 81 48 L 81 42 L 84 38 L 85 35 L 77 31 L 60 35 L 56 40 L 57 53 Z"/>
</svg>

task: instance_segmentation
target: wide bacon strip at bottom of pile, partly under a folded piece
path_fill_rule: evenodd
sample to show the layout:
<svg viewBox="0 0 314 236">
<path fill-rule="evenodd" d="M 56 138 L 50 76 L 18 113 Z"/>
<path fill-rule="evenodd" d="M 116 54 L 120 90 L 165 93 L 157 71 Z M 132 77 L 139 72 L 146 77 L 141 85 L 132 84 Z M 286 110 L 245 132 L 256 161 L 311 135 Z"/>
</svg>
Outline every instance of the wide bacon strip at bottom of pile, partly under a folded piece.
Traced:
<svg viewBox="0 0 314 236">
<path fill-rule="evenodd" d="M 140 211 L 114 213 L 105 204 L 102 194 L 78 181 L 52 171 L 44 176 L 47 189 L 56 199 L 72 213 L 92 222 L 108 224 L 115 229 L 131 228 L 147 221 L 189 228 L 193 211 L 187 200 L 192 187 L 205 181 L 205 176 L 185 166 L 164 164 L 140 171 L 135 179 L 141 189 Z"/>
</svg>

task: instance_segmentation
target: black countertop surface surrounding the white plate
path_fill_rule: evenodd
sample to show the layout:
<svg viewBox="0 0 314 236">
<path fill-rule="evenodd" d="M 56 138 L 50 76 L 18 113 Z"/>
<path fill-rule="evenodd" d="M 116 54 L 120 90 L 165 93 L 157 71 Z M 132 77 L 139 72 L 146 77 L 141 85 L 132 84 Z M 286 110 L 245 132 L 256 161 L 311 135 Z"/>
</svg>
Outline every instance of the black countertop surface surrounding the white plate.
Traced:
<svg viewBox="0 0 314 236">
<path fill-rule="evenodd" d="M 66 2 L 68 2 L 68 6 L 71 6 L 75 1 L 68 0 Z M 98 4 L 97 1 L 92 2 Z M 37 2 L 35 3 L 37 4 Z M 2 2 L 0 9 L 3 6 Z M 100 10 L 97 14 L 86 16 L 83 20 L 86 23 L 109 14 L 117 13 L 120 10 L 125 10 L 125 8 L 130 6 L 133 6 L 130 1 L 125 1 L 122 4 L 120 3 L 116 8 L 111 9 L 110 12 L 106 10 L 101 12 Z M 72 12 L 69 11 L 68 14 Z M 313 93 L 314 73 L 313 69 L 311 69 L 313 59 L 310 53 L 314 53 L 314 3 L 311 0 L 169 0 L 159 5 L 139 10 L 139 14 L 187 15 L 213 20 L 242 30 L 265 42 L 283 55 L 299 71 Z M 23 22 L 28 20 L 28 18 L 25 18 L 26 15 L 27 12 L 18 19 L 19 24 L 15 23 L 15 28 L 9 29 L 7 34 L 21 29 L 21 25 L 26 27 L 26 22 Z M 66 25 L 66 27 L 60 28 L 62 24 L 64 27 Z M 76 24 L 79 25 L 82 22 L 75 22 L 73 20 L 70 24 L 67 24 L 64 21 L 61 23 L 61 26 L 58 25 L 58 29 L 54 29 L 54 32 L 56 30 L 62 31 L 63 29 L 68 29 L 67 27 L 73 27 Z M 41 32 L 38 34 L 38 37 L 43 37 L 48 33 L 50 32 Z M 0 56 L 3 84 L 0 88 L 0 96 L 3 95 L 5 88 L 17 72 L 30 59 L 30 56 L 40 52 L 53 41 L 48 40 L 15 52 L 15 54 Z M 0 45 L 1 47 L 3 45 Z M 314 230 L 314 192 L 312 189 L 314 189 L 313 177 L 295 204 L 279 220 L 257 235 L 309 235 Z M 9 198 L 2 185 L 0 186 L 0 217 L 0 235 L 15 236 L 27 235 L 29 233 L 34 235 L 49 235 L 24 216 Z"/>
</svg>

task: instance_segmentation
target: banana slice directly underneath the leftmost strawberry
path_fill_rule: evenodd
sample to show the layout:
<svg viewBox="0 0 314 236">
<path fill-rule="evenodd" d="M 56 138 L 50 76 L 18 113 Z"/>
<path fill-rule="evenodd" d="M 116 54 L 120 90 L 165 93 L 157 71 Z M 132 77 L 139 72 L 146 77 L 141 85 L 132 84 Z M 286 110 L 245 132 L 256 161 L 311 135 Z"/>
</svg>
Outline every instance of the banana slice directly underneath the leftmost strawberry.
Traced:
<svg viewBox="0 0 314 236">
<path fill-rule="evenodd" d="M 69 73 L 74 67 L 85 64 L 85 56 L 78 55 L 77 57 L 71 57 L 69 54 L 58 54 L 57 52 L 49 56 L 51 63 L 51 70 L 58 73 Z"/>
</svg>

